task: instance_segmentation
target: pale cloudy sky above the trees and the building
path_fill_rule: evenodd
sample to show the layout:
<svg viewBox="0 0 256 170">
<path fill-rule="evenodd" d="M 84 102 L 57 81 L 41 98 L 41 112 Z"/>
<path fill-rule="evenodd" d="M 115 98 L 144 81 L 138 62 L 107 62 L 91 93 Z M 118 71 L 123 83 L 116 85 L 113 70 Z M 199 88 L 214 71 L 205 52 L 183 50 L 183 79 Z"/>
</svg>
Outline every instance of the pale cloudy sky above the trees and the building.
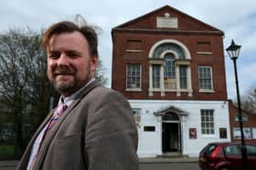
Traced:
<svg viewBox="0 0 256 170">
<path fill-rule="evenodd" d="M 82 15 L 89 24 L 98 25 L 99 51 L 111 85 L 111 30 L 164 5 L 196 17 L 225 33 L 224 49 L 231 42 L 241 45 L 238 59 L 240 95 L 256 87 L 256 3 L 253 0 L 0 0 L 0 34 L 9 28 L 40 30 L 60 20 L 73 20 Z M 225 52 L 225 55 L 227 53 Z M 233 63 L 226 58 L 229 99 L 236 97 Z"/>
</svg>

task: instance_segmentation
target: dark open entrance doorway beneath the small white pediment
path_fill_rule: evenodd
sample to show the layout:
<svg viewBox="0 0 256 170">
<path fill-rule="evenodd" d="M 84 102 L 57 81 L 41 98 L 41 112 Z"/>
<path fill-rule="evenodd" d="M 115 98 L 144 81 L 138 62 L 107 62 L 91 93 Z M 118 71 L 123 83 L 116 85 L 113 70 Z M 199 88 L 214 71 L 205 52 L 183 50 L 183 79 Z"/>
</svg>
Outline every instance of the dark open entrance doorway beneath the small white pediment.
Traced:
<svg viewBox="0 0 256 170">
<path fill-rule="evenodd" d="M 163 153 L 180 152 L 179 124 L 163 123 L 162 128 Z"/>
</svg>

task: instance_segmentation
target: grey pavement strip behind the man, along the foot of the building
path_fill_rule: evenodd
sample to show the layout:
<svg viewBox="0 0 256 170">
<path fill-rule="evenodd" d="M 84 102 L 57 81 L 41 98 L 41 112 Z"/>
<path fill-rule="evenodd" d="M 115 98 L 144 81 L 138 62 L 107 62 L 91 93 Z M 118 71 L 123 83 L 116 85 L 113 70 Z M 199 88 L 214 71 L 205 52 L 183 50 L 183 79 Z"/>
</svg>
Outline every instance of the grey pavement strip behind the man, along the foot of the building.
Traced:
<svg viewBox="0 0 256 170">
<path fill-rule="evenodd" d="M 140 158 L 140 164 L 156 163 L 197 163 L 198 157 L 178 156 L 178 157 L 147 157 Z M 18 160 L 0 161 L 0 167 L 16 167 Z"/>
</svg>

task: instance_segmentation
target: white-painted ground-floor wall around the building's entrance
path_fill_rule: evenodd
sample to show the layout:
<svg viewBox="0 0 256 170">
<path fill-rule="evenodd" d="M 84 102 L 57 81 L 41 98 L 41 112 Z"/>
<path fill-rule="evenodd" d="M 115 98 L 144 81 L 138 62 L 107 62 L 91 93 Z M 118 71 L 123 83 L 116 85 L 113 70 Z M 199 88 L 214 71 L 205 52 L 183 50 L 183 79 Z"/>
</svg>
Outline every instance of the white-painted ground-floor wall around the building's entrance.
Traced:
<svg viewBox="0 0 256 170">
<path fill-rule="evenodd" d="M 129 100 L 133 108 L 141 109 L 141 125 L 138 127 L 140 157 L 162 155 L 162 122 L 155 112 L 175 106 L 188 115 L 181 120 L 183 155 L 198 156 L 199 151 L 208 143 L 230 141 L 229 104 L 227 101 L 190 101 L 190 100 Z M 201 135 L 200 110 L 213 109 L 215 134 Z M 144 125 L 154 125 L 155 132 L 144 132 Z M 189 139 L 189 127 L 197 128 L 197 139 Z M 227 128 L 227 139 L 219 139 L 219 127 Z"/>
</svg>

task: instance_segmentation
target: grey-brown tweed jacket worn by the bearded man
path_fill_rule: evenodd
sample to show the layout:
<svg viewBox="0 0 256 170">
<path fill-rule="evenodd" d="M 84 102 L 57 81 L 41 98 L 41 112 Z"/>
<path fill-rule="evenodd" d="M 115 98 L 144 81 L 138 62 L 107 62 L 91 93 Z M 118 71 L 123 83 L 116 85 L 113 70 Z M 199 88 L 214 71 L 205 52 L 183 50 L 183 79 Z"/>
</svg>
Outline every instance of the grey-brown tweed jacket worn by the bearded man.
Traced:
<svg viewBox="0 0 256 170">
<path fill-rule="evenodd" d="M 17 167 L 27 169 L 37 129 Z M 138 170 L 138 135 L 131 106 L 97 81 L 88 85 L 48 132 L 37 155 L 39 170 Z"/>
</svg>

